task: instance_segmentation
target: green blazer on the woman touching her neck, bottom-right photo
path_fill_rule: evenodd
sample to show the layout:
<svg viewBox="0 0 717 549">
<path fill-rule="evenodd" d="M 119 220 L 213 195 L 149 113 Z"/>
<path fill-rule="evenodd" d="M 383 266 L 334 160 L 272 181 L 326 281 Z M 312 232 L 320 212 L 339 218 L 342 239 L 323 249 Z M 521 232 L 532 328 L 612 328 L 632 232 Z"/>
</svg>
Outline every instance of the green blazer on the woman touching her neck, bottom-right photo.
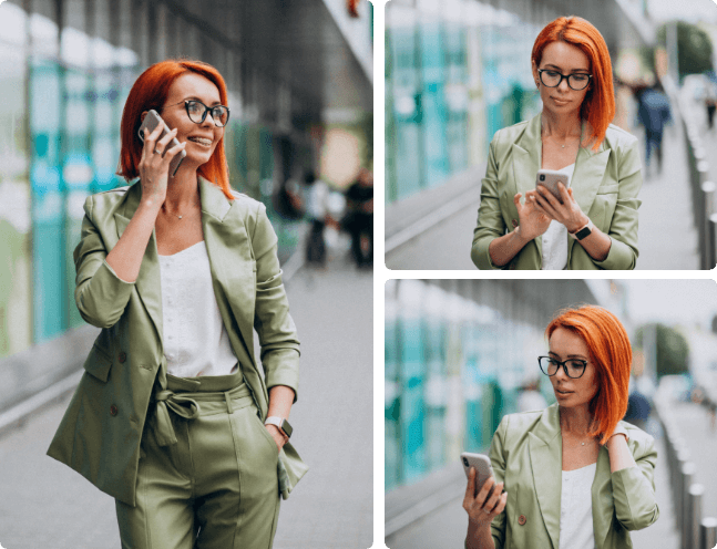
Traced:
<svg viewBox="0 0 717 549">
<path fill-rule="evenodd" d="M 659 517 L 654 438 L 629 423 L 619 425 L 637 466 L 611 473 L 607 449 L 600 448 L 591 490 L 595 549 L 631 548 L 628 530 L 647 528 Z M 491 524 L 495 549 L 560 547 L 562 456 L 557 403 L 503 417 L 490 449 L 495 481 L 504 481 L 508 491 L 505 510 Z"/>
</svg>

